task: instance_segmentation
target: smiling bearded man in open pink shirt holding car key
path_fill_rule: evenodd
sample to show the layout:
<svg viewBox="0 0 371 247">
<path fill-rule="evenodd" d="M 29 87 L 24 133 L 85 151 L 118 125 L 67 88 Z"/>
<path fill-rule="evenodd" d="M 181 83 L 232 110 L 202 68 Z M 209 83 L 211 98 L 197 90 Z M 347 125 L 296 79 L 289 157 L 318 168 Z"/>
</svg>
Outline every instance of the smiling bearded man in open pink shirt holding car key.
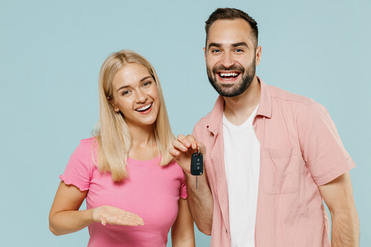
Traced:
<svg viewBox="0 0 371 247">
<path fill-rule="evenodd" d="M 256 76 L 262 48 L 245 12 L 217 9 L 205 30 L 207 75 L 220 96 L 170 149 L 199 230 L 212 246 L 358 246 L 348 172 L 355 163 L 326 109 Z M 190 175 L 197 145 L 205 164 L 198 189 Z"/>
</svg>

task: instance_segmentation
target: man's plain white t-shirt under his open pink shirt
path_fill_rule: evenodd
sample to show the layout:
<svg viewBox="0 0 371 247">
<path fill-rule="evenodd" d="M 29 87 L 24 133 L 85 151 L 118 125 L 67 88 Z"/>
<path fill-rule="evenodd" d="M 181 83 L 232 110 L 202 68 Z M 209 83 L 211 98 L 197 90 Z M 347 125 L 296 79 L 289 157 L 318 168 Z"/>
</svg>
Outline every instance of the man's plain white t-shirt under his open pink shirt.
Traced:
<svg viewBox="0 0 371 247">
<path fill-rule="evenodd" d="M 252 121 L 258 106 L 240 126 L 223 114 L 225 173 L 232 247 L 255 246 L 256 204 L 260 174 L 260 143 Z"/>
</svg>

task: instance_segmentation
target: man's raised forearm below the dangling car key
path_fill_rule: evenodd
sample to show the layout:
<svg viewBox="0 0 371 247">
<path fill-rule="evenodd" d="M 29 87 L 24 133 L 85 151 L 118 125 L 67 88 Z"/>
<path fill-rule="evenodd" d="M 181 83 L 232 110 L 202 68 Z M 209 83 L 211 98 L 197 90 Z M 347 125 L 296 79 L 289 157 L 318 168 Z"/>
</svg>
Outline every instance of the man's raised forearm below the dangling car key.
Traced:
<svg viewBox="0 0 371 247">
<path fill-rule="evenodd" d="M 214 202 L 205 174 L 198 176 L 198 189 L 196 189 L 196 176 L 186 174 L 186 179 L 188 205 L 193 220 L 199 231 L 206 235 L 211 235 Z"/>
</svg>

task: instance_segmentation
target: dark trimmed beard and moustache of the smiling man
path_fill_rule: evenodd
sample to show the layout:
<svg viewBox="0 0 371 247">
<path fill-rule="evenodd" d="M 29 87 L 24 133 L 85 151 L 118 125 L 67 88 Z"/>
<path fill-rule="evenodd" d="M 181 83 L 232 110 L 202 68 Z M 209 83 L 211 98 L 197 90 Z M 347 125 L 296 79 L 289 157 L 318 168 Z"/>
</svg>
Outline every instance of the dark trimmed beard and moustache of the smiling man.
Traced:
<svg viewBox="0 0 371 247">
<path fill-rule="evenodd" d="M 229 68 L 220 65 L 212 68 L 212 70 L 207 67 L 207 77 L 209 78 L 210 84 L 212 84 L 212 87 L 216 90 L 216 92 L 218 92 L 219 95 L 222 95 L 223 97 L 235 97 L 245 92 L 246 89 L 248 89 L 251 85 L 251 82 L 254 80 L 255 76 L 255 64 L 254 56 L 254 59 L 247 68 L 244 68 L 239 64 Z M 241 78 L 239 81 L 236 81 L 235 84 L 222 84 L 216 79 L 216 76 L 218 76 L 216 73 L 218 71 L 238 71 L 241 74 Z"/>
</svg>

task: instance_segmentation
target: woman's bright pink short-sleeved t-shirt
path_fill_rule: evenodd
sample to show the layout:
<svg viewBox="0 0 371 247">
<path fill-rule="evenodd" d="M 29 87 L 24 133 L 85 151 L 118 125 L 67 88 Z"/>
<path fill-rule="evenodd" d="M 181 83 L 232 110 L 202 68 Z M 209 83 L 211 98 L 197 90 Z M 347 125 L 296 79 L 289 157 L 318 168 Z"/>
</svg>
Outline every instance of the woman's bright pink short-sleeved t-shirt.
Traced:
<svg viewBox="0 0 371 247">
<path fill-rule="evenodd" d="M 187 197 L 182 169 L 175 162 L 159 166 L 160 156 L 150 161 L 128 158 L 128 178 L 115 183 L 110 173 L 102 174 L 94 165 L 94 141 L 92 137 L 80 142 L 60 180 L 80 191 L 89 190 L 87 209 L 118 207 L 142 217 L 144 226 L 90 224 L 88 246 L 166 246 L 168 232 L 177 218 L 179 197 Z"/>
</svg>

